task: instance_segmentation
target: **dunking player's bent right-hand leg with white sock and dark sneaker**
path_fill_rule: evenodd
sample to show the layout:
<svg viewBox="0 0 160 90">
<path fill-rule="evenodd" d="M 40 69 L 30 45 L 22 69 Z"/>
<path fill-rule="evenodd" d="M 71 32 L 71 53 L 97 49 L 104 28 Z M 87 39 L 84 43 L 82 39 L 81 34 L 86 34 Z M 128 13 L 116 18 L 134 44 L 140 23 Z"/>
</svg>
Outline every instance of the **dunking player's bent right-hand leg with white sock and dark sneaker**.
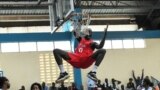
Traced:
<svg viewBox="0 0 160 90">
<path fill-rule="evenodd" d="M 92 55 L 92 58 L 95 60 L 95 65 L 93 66 L 93 70 L 88 73 L 88 77 L 91 78 L 92 80 L 97 80 L 96 71 L 98 66 L 101 64 L 105 56 L 105 53 L 106 53 L 105 49 L 99 49 Z"/>
</svg>

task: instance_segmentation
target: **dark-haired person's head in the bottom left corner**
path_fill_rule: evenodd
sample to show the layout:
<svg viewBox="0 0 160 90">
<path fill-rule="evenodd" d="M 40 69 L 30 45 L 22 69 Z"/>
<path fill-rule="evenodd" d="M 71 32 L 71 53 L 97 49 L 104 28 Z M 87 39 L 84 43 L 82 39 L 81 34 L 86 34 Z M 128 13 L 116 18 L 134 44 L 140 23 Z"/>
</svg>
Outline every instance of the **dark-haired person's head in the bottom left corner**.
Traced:
<svg viewBox="0 0 160 90">
<path fill-rule="evenodd" d="M 8 90 L 9 88 L 9 80 L 6 77 L 0 77 L 0 90 Z"/>
</svg>

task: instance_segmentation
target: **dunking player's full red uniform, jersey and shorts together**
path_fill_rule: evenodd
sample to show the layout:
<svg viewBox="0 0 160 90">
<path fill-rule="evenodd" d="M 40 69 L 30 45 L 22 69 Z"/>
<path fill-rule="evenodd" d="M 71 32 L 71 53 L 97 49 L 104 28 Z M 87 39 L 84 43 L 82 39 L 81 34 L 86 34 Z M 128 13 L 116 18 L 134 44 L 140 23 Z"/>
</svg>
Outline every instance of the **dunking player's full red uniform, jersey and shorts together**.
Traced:
<svg viewBox="0 0 160 90">
<path fill-rule="evenodd" d="M 91 57 L 93 54 L 93 49 L 91 48 L 91 43 L 93 40 L 86 40 L 84 38 L 79 42 L 75 53 L 68 52 L 70 60 L 67 60 L 72 66 L 76 68 L 88 68 L 95 62 Z"/>
</svg>

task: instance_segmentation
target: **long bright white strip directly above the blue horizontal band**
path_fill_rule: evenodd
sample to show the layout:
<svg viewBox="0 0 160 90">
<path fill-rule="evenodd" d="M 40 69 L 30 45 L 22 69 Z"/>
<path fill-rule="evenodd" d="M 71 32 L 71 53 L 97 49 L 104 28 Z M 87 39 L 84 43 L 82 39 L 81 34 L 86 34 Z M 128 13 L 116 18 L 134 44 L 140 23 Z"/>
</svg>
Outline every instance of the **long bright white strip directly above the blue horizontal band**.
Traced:
<svg viewBox="0 0 160 90">
<path fill-rule="evenodd" d="M 89 25 L 93 31 L 104 31 L 106 25 Z M 84 28 L 84 27 L 82 27 Z M 71 30 L 73 27 L 70 28 Z M 126 25 L 109 25 L 108 31 L 135 31 L 138 29 L 137 24 Z M 58 31 L 61 31 L 62 27 Z M 51 32 L 50 26 L 31 26 L 31 27 L 5 27 L 0 28 L 0 33 L 35 33 L 35 32 Z"/>
</svg>

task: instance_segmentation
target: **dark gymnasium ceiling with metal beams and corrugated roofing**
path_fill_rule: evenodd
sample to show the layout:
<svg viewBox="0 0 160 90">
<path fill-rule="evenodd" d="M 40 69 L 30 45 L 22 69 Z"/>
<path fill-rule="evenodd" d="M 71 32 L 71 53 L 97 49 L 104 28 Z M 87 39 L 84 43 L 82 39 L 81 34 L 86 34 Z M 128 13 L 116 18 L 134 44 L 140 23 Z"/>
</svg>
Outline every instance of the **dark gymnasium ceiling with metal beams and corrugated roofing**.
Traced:
<svg viewBox="0 0 160 90">
<path fill-rule="evenodd" d="M 91 24 L 132 24 L 160 28 L 160 0 L 75 0 Z M 48 0 L 0 0 L 0 26 L 49 25 Z"/>
</svg>

